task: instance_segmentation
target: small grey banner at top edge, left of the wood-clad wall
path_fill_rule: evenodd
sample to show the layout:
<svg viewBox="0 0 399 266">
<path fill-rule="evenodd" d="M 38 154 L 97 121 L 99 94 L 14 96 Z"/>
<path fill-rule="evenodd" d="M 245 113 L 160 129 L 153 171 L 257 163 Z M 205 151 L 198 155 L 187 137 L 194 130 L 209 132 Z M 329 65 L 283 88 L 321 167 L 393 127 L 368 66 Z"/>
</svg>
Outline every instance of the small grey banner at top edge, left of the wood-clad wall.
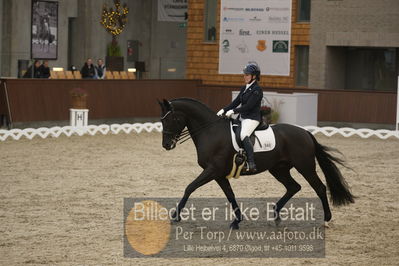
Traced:
<svg viewBox="0 0 399 266">
<path fill-rule="evenodd" d="M 187 0 L 158 0 L 158 21 L 186 21 L 187 2 Z"/>
</svg>

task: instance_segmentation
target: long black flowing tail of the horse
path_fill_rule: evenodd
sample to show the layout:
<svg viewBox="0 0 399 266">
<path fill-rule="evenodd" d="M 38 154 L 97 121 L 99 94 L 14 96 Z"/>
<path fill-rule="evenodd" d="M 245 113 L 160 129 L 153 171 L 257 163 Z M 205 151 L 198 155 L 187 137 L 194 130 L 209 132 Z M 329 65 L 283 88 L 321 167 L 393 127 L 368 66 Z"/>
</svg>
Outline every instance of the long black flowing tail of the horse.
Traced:
<svg viewBox="0 0 399 266">
<path fill-rule="evenodd" d="M 335 163 L 344 167 L 347 166 L 345 165 L 344 160 L 334 157 L 329 153 L 338 150 L 321 145 L 310 132 L 309 134 L 312 136 L 315 144 L 316 158 L 324 176 L 326 177 L 327 187 L 330 190 L 330 197 L 333 204 L 338 206 L 354 203 L 355 197 L 350 192 L 348 184 Z"/>
</svg>

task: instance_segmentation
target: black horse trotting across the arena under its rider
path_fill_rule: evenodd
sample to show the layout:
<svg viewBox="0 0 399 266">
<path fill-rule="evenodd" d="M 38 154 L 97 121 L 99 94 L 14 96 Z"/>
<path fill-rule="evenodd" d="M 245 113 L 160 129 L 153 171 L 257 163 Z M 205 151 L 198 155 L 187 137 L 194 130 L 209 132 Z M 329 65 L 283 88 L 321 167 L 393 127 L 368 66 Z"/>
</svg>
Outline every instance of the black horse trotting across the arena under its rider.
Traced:
<svg viewBox="0 0 399 266">
<path fill-rule="evenodd" d="M 180 220 L 180 211 L 184 208 L 191 193 L 206 183 L 215 180 L 235 213 L 235 220 L 230 225 L 238 229 L 241 211 L 236 202 L 234 192 L 226 176 L 233 166 L 235 150 L 231 142 L 230 122 L 221 119 L 199 101 L 180 98 L 171 102 L 159 102 L 162 108 L 162 146 L 166 150 L 176 147 L 177 142 L 188 129 L 197 149 L 198 164 L 203 172 L 192 181 L 184 191 L 173 218 Z M 323 204 L 324 220 L 331 220 L 331 211 L 327 200 L 326 186 L 316 173 L 315 158 L 326 177 L 327 187 L 334 205 L 345 205 L 354 202 L 340 170 L 335 163 L 343 165 L 343 161 L 332 156 L 331 149 L 319 144 L 314 136 L 297 126 L 288 124 L 273 125 L 276 147 L 272 151 L 255 153 L 257 173 L 269 172 L 287 189 L 283 197 L 276 203 L 276 223 L 279 221 L 281 208 L 297 193 L 301 186 L 292 178 L 290 169 L 295 168 L 309 182 Z"/>
</svg>

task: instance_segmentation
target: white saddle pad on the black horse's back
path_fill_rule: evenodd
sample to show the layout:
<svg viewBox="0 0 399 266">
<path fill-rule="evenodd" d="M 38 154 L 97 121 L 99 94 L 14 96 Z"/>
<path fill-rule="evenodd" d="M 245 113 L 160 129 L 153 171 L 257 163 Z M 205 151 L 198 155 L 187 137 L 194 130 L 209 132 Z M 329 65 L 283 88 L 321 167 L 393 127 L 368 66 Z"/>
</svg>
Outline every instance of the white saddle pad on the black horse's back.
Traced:
<svg viewBox="0 0 399 266">
<path fill-rule="evenodd" d="M 232 123 L 230 123 L 230 131 L 233 147 L 236 151 L 239 151 L 240 147 L 238 147 Z M 255 136 L 257 139 L 255 138 L 254 152 L 271 151 L 276 147 L 276 138 L 274 137 L 274 132 L 271 126 L 266 130 L 255 131 Z"/>
</svg>

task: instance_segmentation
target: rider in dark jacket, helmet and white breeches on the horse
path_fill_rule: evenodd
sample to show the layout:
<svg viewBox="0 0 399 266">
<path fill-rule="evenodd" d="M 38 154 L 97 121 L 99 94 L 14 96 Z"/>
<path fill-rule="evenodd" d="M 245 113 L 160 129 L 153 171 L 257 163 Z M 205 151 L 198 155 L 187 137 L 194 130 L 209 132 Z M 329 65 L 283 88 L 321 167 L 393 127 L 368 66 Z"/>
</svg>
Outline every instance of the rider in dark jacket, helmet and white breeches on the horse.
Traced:
<svg viewBox="0 0 399 266">
<path fill-rule="evenodd" d="M 240 138 L 248 157 L 248 170 L 249 172 L 256 172 L 254 151 L 249 136 L 251 136 L 261 120 L 260 106 L 263 92 L 258 85 L 258 81 L 260 80 L 260 69 L 257 64 L 250 63 L 245 66 L 243 72 L 246 85 L 241 88 L 240 93 L 233 102 L 221 109 L 217 115 L 222 116 L 226 113 L 226 116 L 230 118 L 233 114 L 240 114 Z M 239 104 L 241 104 L 240 107 L 238 107 Z"/>
</svg>

